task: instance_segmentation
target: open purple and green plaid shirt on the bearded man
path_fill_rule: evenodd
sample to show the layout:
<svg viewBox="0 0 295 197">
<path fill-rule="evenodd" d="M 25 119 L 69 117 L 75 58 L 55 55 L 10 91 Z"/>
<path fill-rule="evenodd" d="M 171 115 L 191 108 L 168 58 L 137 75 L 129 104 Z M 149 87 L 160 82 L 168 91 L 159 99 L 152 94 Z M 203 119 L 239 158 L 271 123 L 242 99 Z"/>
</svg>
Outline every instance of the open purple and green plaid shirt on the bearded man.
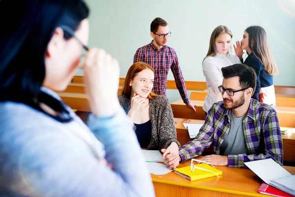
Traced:
<svg viewBox="0 0 295 197">
<path fill-rule="evenodd" d="M 248 154 L 229 155 L 229 167 L 244 167 L 244 162 L 267 158 L 283 164 L 282 135 L 277 113 L 272 107 L 251 99 L 242 127 Z M 214 153 L 219 155 L 230 128 L 230 110 L 224 108 L 223 101 L 214 103 L 196 138 L 180 148 L 181 161 L 200 156 L 212 142 Z"/>
</svg>

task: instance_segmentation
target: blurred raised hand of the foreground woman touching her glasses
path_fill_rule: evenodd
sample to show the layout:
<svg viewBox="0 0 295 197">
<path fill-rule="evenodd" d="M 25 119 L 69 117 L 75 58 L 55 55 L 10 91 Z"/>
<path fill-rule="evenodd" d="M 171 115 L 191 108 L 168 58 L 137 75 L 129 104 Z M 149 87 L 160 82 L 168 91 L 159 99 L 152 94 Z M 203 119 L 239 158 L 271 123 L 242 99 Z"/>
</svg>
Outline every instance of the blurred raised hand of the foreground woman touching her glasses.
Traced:
<svg viewBox="0 0 295 197">
<path fill-rule="evenodd" d="M 91 111 L 96 117 L 113 116 L 119 110 L 119 64 L 103 49 L 91 48 L 86 54 L 85 90 Z"/>
</svg>

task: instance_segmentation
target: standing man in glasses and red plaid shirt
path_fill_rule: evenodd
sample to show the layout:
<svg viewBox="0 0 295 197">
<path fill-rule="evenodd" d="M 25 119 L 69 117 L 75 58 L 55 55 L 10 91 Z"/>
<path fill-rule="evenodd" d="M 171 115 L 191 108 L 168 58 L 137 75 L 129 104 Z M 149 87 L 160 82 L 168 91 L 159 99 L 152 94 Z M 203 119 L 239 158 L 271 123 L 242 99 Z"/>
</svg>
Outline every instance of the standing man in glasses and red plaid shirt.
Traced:
<svg viewBox="0 0 295 197">
<path fill-rule="evenodd" d="M 171 68 L 183 102 L 186 106 L 196 111 L 194 106 L 197 106 L 197 104 L 192 103 L 188 99 L 176 52 L 173 48 L 166 45 L 170 35 L 168 23 L 162 18 L 155 18 L 150 24 L 150 36 L 153 40 L 136 51 L 133 63 L 144 62 L 152 66 L 155 71 L 153 92 L 165 97 L 167 75 Z"/>
</svg>

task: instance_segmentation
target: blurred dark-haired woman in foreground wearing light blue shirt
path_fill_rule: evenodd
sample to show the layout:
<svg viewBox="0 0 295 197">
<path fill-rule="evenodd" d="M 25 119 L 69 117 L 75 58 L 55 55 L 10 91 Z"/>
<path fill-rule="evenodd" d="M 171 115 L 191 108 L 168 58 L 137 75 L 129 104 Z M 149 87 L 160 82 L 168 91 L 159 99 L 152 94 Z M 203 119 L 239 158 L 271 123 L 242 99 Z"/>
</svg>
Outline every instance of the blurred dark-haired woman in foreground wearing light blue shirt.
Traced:
<svg viewBox="0 0 295 197">
<path fill-rule="evenodd" d="M 88 49 L 85 2 L 17 3 L 0 1 L 0 196 L 154 196 L 118 102 L 117 60 L 102 49 L 87 52 L 89 128 L 54 92 L 67 87 Z"/>
</svg>

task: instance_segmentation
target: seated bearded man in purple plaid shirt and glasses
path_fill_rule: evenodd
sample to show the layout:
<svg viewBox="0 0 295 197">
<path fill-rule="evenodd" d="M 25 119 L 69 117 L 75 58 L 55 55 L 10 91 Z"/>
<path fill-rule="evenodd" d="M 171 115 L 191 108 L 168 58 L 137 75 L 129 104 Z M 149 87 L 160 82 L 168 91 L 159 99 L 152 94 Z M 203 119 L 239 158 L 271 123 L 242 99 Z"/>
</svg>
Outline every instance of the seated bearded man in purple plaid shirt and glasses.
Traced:
<svg viewBox="0 0 295 197">
<path fill-rule="evenodd" d="M 164 163 L 176 167 L 176 161 L 198 157 L 213 143 L 215 155 L 200 160 L 244 167 L 244 162 L 271 158 L 282 165 L 283 142 L 277 112 L 270 105 L 251 99 L 256 87 L 255 71 L 244 64 L 223 67 L 221 71 L 224 79 L 218 89 L 223 101 L 212 105 L 199 134 L 180 148 L 179 156 L 166 155 Z"/>
</svg>

